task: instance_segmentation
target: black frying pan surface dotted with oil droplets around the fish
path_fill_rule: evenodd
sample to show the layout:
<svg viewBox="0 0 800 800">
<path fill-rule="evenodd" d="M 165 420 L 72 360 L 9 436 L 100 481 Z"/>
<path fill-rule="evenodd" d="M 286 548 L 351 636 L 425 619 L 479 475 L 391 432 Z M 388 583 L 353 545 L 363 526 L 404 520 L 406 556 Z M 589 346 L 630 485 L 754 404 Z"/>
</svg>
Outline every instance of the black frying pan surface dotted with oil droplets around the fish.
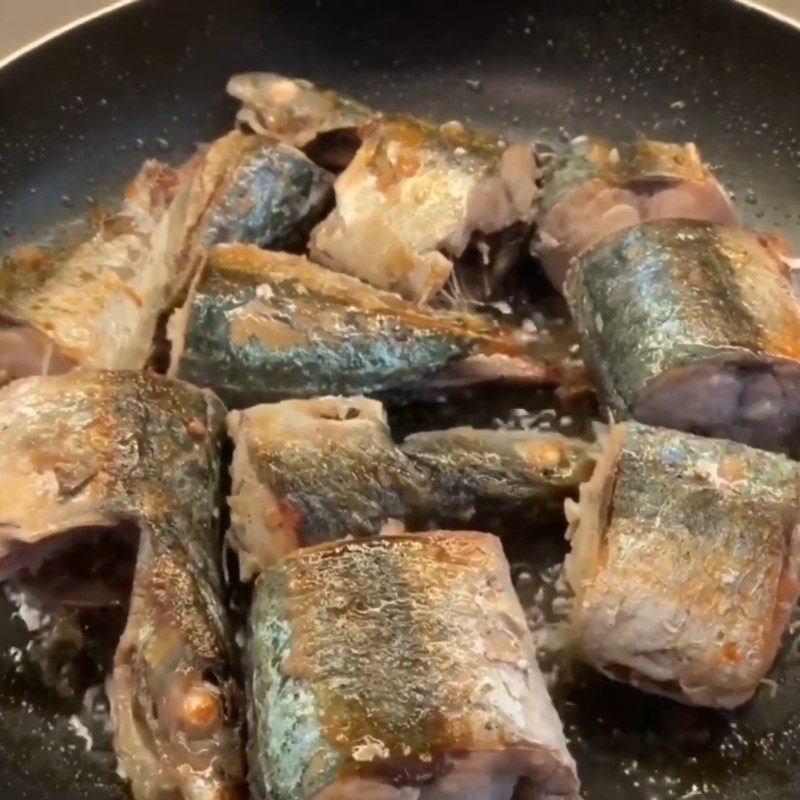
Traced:
<svg viewBox="0 0 800 800">
<path fill-rule="evenodd" d="M 226 79 L 307 76 L 387 110 L 545 142 L 591 131 L 696 140 L 745 220 L 793 236 L 800 33 L 730 0 L 142 0 L 0 71 L 0 254 L 117 196 L 146 157 L 180 161 L 230 127 Z M 557 555 L 512 540 L 523 601 Z M 533 574 L 534 579 L 530 579 Z M 80 702 L 42 688 L 0 600 L 0 798 L 125 791 Z M 684 709 L 573 677 L 555 689 L 591 800 L 800 797 L 800 658 L 745 710 Z M 96 676 L 95 676 L 96 678 Z M 82 717 L 86 720 L 84 714 Z"/>
</svg>

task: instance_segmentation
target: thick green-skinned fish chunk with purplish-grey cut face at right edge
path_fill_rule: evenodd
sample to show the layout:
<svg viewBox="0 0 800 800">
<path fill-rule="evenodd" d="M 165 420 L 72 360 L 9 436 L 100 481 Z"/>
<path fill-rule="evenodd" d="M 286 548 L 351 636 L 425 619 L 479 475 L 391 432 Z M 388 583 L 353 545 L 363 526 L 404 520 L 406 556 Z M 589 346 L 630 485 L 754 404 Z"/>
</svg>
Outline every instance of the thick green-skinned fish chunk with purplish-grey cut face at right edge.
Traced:
<svg viewBox="0 0 800 800">
<path fill-rule="evenodd" d="M 800 308 L 770 237 L 645 223 L 579 259 L 567 298 L 616 419 L 800 455 Z"/>
</svg>

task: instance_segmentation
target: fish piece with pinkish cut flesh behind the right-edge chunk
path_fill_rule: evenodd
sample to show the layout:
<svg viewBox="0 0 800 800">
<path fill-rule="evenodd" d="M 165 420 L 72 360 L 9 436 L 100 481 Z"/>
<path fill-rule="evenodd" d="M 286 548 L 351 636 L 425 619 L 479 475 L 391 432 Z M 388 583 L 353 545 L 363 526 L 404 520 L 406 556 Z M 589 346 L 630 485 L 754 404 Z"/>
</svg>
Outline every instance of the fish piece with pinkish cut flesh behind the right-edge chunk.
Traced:
<svg viewBox="0 0 800 800">
<path fill-rule="evenodd" d="M 678 218 L 739 224 L 695 145 L 582 136 L 545 170 L 534 252 L 560 291 L 573 260 L 604 237 Z"/>
</svg>

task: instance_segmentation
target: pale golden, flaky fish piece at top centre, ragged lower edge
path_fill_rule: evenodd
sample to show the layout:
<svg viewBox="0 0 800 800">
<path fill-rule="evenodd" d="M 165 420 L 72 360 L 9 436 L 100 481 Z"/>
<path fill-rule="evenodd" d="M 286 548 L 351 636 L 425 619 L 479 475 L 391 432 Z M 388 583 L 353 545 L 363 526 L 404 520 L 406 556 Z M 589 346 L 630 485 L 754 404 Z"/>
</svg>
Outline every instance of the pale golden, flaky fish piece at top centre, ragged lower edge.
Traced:
<svg viewBox="0 0 800 800">
<path fill-rule="evenodd" d="M 361 136 L 336 180 L 336 208 L 312 233 L 311 255 L 320 263 L 428 301 L 482 235 L 530 226 L 538 192 L 531 146 L 506 146 L 456 122 L 437 127 L 403 116 L 372 120 Z M 486 249 L 481 295 L 491 294 L 494 277 Z M 508 261 L 508 253 L 498 258 L 501 271 Z M 467 294 L 463 283 L 456 275 L 450 291 Z"/>
</svg>

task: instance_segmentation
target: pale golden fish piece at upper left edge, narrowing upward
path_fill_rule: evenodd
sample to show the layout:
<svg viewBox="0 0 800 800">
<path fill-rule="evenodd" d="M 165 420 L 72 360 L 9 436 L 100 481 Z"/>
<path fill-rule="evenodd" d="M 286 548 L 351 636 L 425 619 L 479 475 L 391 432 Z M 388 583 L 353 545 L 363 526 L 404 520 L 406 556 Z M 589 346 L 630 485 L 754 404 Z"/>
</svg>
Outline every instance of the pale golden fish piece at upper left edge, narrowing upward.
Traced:
<svg viewBox="0 0 800 800">
<path fill-rule="evenodd" d="M 76 366 L 144 366 L 171 280 L 150 257 L 151 237 L 181 179 L 181 170 L 148 161 L 120 211 L 78 241 L 20 247 L 4 259 L 0 383 Z"/>
</svg>

